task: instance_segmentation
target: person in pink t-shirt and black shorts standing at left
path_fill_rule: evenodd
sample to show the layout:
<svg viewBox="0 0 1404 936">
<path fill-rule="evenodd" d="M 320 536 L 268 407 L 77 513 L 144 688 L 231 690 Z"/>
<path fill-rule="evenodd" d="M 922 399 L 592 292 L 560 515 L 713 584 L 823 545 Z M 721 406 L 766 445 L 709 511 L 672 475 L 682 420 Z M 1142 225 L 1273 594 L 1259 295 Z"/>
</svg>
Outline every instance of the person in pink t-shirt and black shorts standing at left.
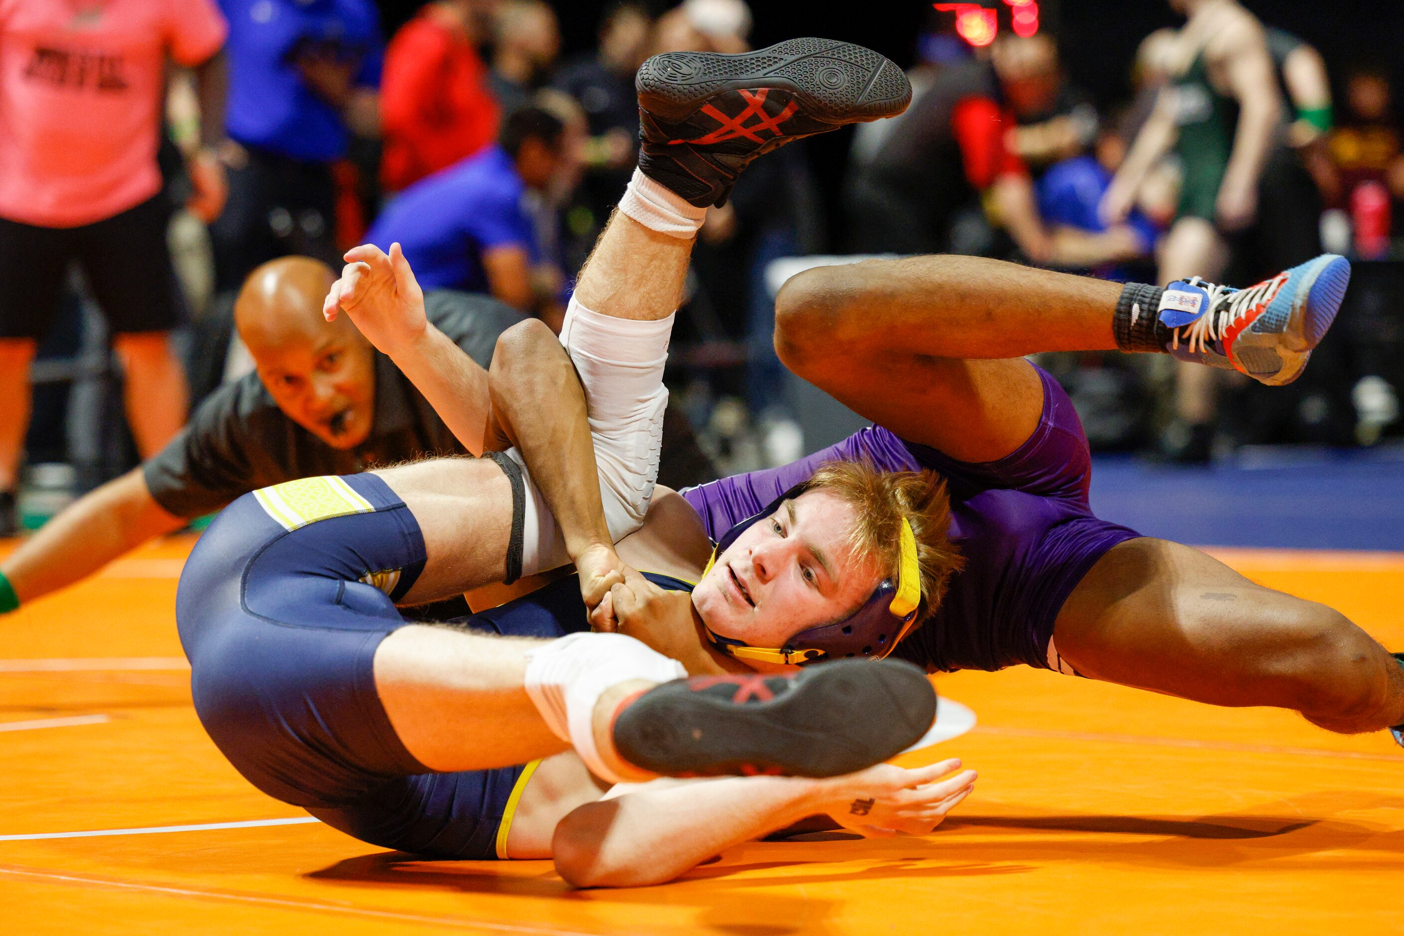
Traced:
<svg viewBox="0 0 1404 936">
<path fill-rule="evenodd" d="M 213 146 L 226 25 L 209 0 L 0 3 L 0 536 L 29 415 L 29 362 L 77 261 L 126 370 L 142 455 L 185 422 L 185 377 L 168 333 L 181 319 L 156 163 L 167 58 L 197 69 L 208 112 L 191 160 L 192 210 L 225 201 Z"/>
</svg>

